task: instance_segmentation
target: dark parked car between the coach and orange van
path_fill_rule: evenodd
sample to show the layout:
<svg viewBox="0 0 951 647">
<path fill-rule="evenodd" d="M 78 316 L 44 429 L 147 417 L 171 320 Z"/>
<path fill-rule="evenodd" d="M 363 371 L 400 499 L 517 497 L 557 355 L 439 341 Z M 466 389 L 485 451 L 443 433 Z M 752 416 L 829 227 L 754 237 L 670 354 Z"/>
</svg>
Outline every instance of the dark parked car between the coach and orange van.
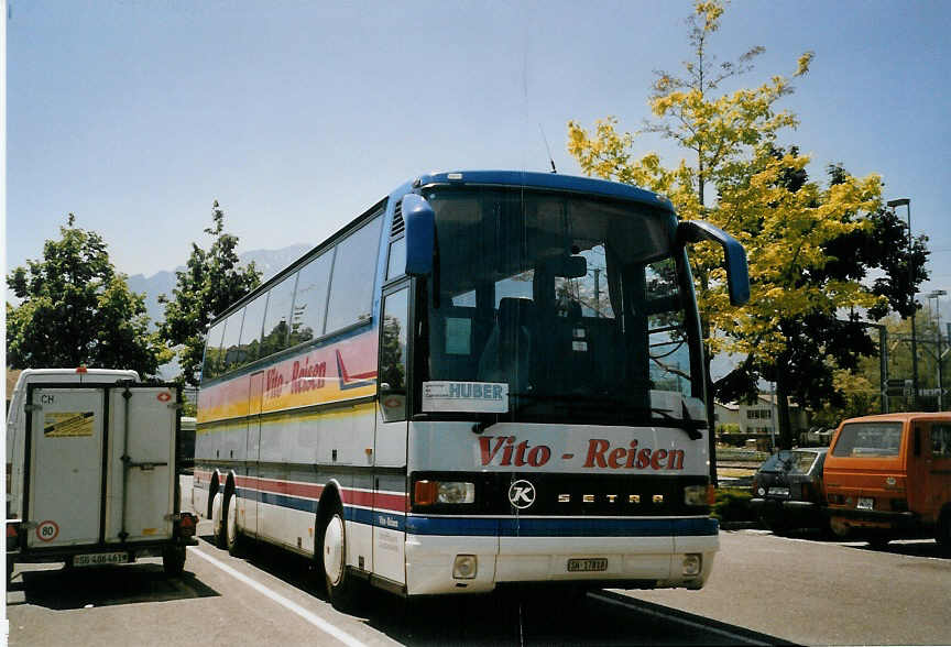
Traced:
<svg viewBox="0 0 951 647">
<path fill-rule="evenodd" d="M 764 526 L 774 533 L 827 527 L 822 515 L 827 452 L 824 447 L 781 449 L 759 465 L 750 504 Z"/>
</svg>

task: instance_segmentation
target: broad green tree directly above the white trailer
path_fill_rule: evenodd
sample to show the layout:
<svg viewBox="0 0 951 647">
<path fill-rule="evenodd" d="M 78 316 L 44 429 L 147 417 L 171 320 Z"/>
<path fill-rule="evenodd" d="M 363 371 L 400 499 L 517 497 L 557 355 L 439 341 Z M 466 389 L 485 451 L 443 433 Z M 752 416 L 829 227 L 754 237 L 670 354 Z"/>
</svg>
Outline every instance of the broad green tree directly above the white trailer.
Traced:
<svg viewBox="0 0 951 647">
<path fill-rule="evenodd" d="M 152 376 L 171 358 L 154 333 L 142 295 L 109 261 L 106 241 L 75 227 L 69 213 L 41 261 L 7 276 L 20 299 L 7 304 L 7 362 L 17 369 L 79 366 L 132 369 Z"/>
</svg>

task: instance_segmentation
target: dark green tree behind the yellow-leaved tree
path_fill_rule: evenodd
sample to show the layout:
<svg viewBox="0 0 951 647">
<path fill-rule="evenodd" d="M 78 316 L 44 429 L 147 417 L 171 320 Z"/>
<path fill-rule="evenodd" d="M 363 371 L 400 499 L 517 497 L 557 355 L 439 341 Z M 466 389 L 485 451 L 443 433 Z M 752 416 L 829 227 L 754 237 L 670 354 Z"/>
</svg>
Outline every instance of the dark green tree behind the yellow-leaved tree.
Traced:
<svg viewBox="0 0 951 647">
<path fill-rule="evenodd" d="M 795 151 L 795 149 L 794 149 Z M 775 151 L 780 158 L 783 151 Z M 829 167 L 830 186 L 846 182 L 849 174 L 841 165 Z M 800 190 L 808 182 L 805 171 L 780 176 L 779 183 L 789 191 Z M 900 219 L 889 210 L 878 209 L 872 213 L 852 213 L 851 221 L 862 224 L 822 245 L 821 264 L 804 266 L 797 277 L 799 283 L 811 285 L 816 290 L 830 289 L 834 284 L 862 282 L 871 285 L 871 293 L 878 297 L 867 310 L 843 314 L 837 309 L 816 308 L 798 317 L 781 317 L 779 331 L 785 338 L 784 348 L 774 355 L 747 355 L 734 371 L 717 384 L 721 399 L 752 398 L 759 379 L 776 384 L 780 429 L 789 429 L 789 397 L 812 410 L 851 408 L 853 413 L 871 405 L 859 397 L 855 390 L 857 376 L 848 379 L 842 372 L 854 373 L 862 358 L 877 357 L 875 340 L 877 331 L 863 320 L 863 314 L 877 320 L 892 311 L 910 315 L 911 300 L 908 288 L 908 231 Z M 927 279 L 925 270 L 928 251 L 927 238 L 914 241 L 910 255 L 915 263 L 915 285 Z M 871 273 L 878 274 L 870 282 Z M 742 336 L 742 331 L 735 332 Z M 846 393 L 846 387 L 850 393 Z M 859 415 L 859 414 L 855 414 Z M 785 446 L 791 436 L 784 434 Z"/>
</svg>

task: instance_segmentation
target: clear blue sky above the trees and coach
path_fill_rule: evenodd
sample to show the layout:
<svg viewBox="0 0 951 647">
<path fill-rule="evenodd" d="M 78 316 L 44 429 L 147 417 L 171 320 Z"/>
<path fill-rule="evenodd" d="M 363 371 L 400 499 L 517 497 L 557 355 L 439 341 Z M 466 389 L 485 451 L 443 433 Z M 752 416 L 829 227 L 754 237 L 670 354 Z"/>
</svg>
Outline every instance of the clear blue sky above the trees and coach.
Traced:
<svg viewBox="0 0 951 647">
<path fill-rule="evenodd" d="M 241 250 L 317 243 L 427 171 L 559 172 L 570 119 L 637 129 L 653 70 L 689 57 L 687 1 L 12 1 L 8 23 L 9 267 L 66 213 L 118 268 L 185 262 L 211 202 Z M 766 53 L 743 85 L 810 74 L 783 106 L 784 144 L 911 198 L 951 292 L 951 3 L 735 0 L 711 44 Z M 638 153 L 679 158 L 643 136 Z M 903 209 L 904 216 L 904 209 Z"/>
</svg>

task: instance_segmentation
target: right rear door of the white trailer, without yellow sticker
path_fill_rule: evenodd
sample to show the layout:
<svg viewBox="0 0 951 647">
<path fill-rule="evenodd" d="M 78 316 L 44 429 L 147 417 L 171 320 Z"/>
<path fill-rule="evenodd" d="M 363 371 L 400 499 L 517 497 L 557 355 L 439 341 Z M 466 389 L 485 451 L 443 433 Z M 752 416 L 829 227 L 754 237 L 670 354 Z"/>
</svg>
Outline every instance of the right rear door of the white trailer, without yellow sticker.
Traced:
<svg viewBox="0 0 951 647">
<path fill-rule="evenodd" d="M 107 542 L 172 537 L 176 407 L 175 391 L 165 386 L 109 392 Z"/>
</svg>

